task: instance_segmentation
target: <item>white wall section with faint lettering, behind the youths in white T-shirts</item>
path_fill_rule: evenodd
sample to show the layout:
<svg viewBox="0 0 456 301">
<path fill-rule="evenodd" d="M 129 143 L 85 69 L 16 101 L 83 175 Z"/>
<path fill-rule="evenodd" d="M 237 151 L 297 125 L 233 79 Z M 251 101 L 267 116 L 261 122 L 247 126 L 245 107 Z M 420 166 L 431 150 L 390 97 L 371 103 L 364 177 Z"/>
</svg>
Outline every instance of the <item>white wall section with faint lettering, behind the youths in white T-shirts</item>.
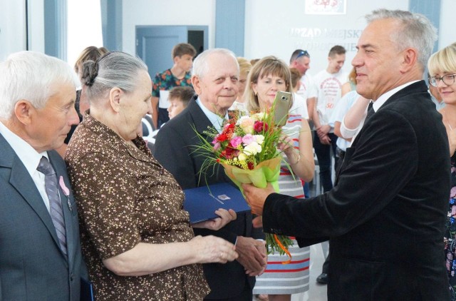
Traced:
<svg viewBox="0 0 456 301">
<path fill-rule="evenodd" d="M 309 1 L 309 0 L 308 0 Z M 351 70 L 356 42 L 366 26 L 363 16 L 374 9 L 408 10 L 408 0 L 346 0 L 346 14 L 305 14 L 305 2 L 296 0 L 247 0 L 244 56 L 261 58 L 274 55 L 289 63 L 295 49 L 311 55 L 309 73 L 326 68 L 328 51 L 334 45 L 346 48 L 345 71 Z M 454 1 L 454 0 L 447 0 Z"/>
</svg>

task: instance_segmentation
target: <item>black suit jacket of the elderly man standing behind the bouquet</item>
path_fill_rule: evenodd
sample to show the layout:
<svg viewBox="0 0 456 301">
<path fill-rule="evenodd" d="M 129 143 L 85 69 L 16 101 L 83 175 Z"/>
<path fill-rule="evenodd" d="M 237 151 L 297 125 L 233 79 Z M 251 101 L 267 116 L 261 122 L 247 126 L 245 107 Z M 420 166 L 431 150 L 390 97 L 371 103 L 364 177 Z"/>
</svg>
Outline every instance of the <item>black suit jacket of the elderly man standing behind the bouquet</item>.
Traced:
<svg viewBox="0 0 456 301">
<path fill-rule="evenodd" d="M 214 173 L 210 168 L 206 176 L 199 177 L 198 172 L 205 158 L 193 152 L 195 148 L 192 146 L 198 146 L 201 142 L 192 126 L 195 126 L 198 133 L 203 136 L 202 132 L 206 131 L 208 126 L 212 126 L 196 101 L 191 101 L 185 111 L 160 128 L 155 140 L 155 158 L 174 175 L 182 189 L 195 188 L 206 183 L 210 185 L 229 182 L 221 165 L 215 166 Z M 209 137 L 206 138 L 212 141 Z M 238 235 L 252 237 L 252 213 L 239 213 L 236 220 L 218 231 L 199 228 L 193 230 L 195 235 L 215 235 L 235 243 Z M 248 277 L 244 267 L 236 260 L 225 265 L 204 264 L 203 269 L 211 289 L 208 298 L 236 297 L 244 290 L 246 283 L 251 289 L 254 287 L 255 278 Z"/>
</svg>

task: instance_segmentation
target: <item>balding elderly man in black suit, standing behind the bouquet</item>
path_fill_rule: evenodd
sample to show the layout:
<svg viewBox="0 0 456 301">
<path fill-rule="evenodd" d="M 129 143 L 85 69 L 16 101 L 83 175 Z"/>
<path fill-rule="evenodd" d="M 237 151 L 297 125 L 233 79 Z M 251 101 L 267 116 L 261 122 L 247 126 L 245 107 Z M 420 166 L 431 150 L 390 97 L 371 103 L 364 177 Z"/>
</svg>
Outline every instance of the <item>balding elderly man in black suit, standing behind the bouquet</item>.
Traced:
<svg viewBox="0 0 456 301">
<path fill-rule="evenodd" d="M 223 118 L 237 97 L 239 66 L 234 53 L 210 49 L 201 53 L 193 64 L 192 84 L 198 98 L 158 132 L 154 155 L 174 175 L 182 189 L 229 182 L 221 166 L 199 175 L 205 157 L 195 153 L 201 142 L 195 130 L 212 141 L 204 131 L 208 126 L 220 130 Z M 193 129 L 195 127 L 195 130 Z M 252 238 L 252 213 L 240 213 L 224 228 L 213 231 L 194 228 L 195 235 L 216 235 L 235 243 L 239 258 L 226 265 L 203 265 L 211 289 L 205 300 L 252 300 L 254 275 L 266 267 L 264 243 Z M 248 274 L 246 274 L 246 271 Z"/>
</svg>

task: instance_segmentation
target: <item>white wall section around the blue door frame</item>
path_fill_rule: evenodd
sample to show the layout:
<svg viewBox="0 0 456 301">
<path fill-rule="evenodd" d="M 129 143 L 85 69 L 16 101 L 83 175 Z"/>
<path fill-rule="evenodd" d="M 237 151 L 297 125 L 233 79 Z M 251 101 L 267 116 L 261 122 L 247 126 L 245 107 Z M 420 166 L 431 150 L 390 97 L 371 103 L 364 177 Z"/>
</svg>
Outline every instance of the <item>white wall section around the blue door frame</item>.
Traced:
<svg viewBox="0 0 456 301">
<path fill-rule="evenodd" d="M 137 25 L 209 26 L 209 48 L 214 47 L 215 0 L 123 0 L 122 6 L 125 52 L 135 55 Z"/>
</svg>

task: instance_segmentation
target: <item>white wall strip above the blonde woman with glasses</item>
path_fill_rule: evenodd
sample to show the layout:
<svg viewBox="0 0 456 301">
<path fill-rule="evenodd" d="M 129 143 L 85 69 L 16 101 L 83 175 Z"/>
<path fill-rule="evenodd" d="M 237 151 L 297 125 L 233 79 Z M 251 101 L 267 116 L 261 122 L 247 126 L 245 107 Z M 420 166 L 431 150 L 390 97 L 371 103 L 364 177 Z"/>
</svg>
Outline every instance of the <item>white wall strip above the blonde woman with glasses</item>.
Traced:
<svg viewBox="0 0 456 301">
<path fill-rule="evenodd" d="M 440 0 L 439 49 L 456 42 L 456 0 Z"/>
</svg>

